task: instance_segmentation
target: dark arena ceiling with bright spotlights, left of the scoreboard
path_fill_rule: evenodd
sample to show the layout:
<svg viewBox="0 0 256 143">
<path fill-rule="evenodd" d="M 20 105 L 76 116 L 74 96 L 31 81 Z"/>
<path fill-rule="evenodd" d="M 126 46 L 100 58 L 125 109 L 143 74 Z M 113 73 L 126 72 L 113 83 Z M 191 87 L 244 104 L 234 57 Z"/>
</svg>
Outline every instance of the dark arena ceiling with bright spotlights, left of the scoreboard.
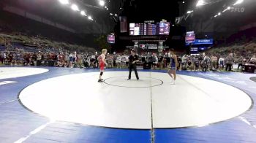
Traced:
<svg viewBox="0 0 256 143">
<path fill-rule="evenodd" d="M 79 5 L 80 9 L 85 9 L 86 13 L 91 15 L 96 22 L 81 16 L 79 12 L 72 11 L 69 6 L 62 5 L 57 0 L 1 0 L 0 8 L 10 9 L 10 7 L 14 7 L 18 9 L 14 12 L 15 14 L 32 19 L 36 18 L 35 20 L 44 19 L 54 23 L 55 26 L 57 25 L 55 23 L 58 23 L 59 27 L 66 27 L 83 34 L 107 34 L 113 30 L 114 23 L 109 18 L 108 12 L 97 7 L 86 7 L 83 2 L 76 1 L 76 4 Z M 94 4 L 95 1 L 91 1 L 91 3 Z M 10 12 L 10 10 L 7 11 Z"/>
</svg>

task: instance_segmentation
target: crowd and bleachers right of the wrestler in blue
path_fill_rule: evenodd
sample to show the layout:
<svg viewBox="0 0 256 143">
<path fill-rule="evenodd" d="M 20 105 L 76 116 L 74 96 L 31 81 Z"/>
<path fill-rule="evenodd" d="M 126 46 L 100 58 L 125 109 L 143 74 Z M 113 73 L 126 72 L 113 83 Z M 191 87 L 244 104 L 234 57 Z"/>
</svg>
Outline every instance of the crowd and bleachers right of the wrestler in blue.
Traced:
<svg viewBox="0 0 256 143">
<path fill-rule="evenodd" d="M 189 70 L 223 70 L 231 71 L 233 64 L 251 63 L 256 65 L 256 42 L 236 43 L 224 47 L 214 47 L 200 55 L 183 55 L 180 57 L 181 69 Z"/>
</svg>

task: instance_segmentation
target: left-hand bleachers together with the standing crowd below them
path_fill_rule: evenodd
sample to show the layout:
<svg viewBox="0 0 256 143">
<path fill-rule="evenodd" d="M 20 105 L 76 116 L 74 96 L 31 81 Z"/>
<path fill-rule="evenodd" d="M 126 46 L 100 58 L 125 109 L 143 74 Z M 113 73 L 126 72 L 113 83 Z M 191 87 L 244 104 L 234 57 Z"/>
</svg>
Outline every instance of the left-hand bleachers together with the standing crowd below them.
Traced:
<svg viewBox="0 0 256 143">
<path fill-rule="evenodd" d="M 37 61 L 54 61 L 54 66 L 73 67 L 75 61 L 94 57 L 95 50 L 83 45 L 56 42 L 44 36 L 28 36 L 13 32 L 8 26 L 0 26 L 0 64 L 36 66 Z M 70 60 L 75 57 L 75 61 Z M 62 58 L 65 59 L 62 59 Z"/>
</svg>

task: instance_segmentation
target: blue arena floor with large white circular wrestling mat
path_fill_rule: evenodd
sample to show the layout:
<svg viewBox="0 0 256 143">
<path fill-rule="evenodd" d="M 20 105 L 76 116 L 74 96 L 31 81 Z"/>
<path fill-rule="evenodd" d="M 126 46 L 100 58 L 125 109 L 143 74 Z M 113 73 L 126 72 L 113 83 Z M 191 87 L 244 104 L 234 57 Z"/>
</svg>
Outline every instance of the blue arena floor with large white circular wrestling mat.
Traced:
<svg viewBox="0 0 256 143">
<path fill-rule="evenodd" d="M 0 67 L 0 142 L 256 142 L 255 74 Z"/>
</svg>

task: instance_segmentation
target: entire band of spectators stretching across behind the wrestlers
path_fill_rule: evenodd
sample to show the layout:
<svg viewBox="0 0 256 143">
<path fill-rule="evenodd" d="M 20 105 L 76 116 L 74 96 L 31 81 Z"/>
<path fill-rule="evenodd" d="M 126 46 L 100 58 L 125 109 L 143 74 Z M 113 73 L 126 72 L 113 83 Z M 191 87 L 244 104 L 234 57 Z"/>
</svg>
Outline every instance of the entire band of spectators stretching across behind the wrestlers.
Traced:
<svg viewBox="0 0 256 143">
<path fill-rule="evenodd" d="M 10 47 L 11 48 L 11 47 Z M 233 45 L 230 47 L 218 47 L 207 50 L 200 55 L 178 54 L 178 69 L 190 71 L 231 71 L 233 64 L 238 64 L 238 69 L 245 63 L 256 64 L 256 43 L 249 42 L 244 45 Z M 42 50 L 38 47 L 16 47 L 11 51 L 2 50 L 0 63 L 10 65 L 36 66 L 37 61 L 54 61 L 54 66 L 59 67 L 91 67 L 98 66 L 97 52 L 77 53 L 67 50 L 56 50 L 48 47 Z M 126 68 L 129 54 L 116 53 L 106 56 L 108 68 Z M 140 62 L 149 63 L 151 69 L 166 69 L 170 58 L 165 54 L 141 54 Z"/>
</svg>

